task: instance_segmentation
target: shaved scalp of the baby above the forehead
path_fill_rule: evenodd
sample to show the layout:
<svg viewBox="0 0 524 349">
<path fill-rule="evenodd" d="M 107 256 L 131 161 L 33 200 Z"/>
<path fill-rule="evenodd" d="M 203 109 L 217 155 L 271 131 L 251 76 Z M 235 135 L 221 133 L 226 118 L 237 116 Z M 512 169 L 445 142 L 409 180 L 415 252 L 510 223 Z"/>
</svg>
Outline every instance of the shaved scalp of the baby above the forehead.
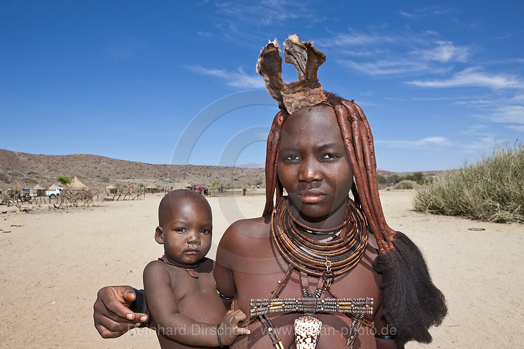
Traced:
<svg viewBox="0 0 524 349">
<path fill-rule="evenodd" d="M 178 189 L 167 193 L 160 201 L 158 206 L 158 225 L 162 227 L 166 220 L 172 217 L 175 212 L 179 212 L 179 209 L 185 205 L 207 210 L 211 216 L 211 206 L 209 206 L 208 200 L 201 194 L 189 189 Z"/>
</svg>

